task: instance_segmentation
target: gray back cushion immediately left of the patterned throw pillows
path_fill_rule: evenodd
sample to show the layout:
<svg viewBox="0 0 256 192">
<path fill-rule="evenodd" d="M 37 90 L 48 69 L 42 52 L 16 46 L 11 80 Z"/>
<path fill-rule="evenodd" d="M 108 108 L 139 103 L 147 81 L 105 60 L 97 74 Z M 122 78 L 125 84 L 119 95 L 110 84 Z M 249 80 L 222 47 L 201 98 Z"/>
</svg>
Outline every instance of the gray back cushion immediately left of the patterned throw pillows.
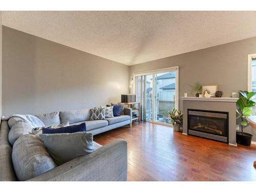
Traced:
<svg viewBox="0 0 256 192">
<path fill-rule="evenodd" d="M 77 123 L 88 121 L 90 119 L 90 109 L 71 110 L 59 112 L 60 122 L 69 121 L 69 123 Z"/>
</svg>

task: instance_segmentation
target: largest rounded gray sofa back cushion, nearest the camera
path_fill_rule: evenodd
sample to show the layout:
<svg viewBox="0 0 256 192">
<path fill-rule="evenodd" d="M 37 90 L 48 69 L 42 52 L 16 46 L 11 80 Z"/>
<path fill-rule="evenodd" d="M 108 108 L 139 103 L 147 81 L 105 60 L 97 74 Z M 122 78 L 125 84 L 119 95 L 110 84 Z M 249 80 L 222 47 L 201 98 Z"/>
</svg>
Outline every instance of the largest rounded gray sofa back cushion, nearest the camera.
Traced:
<svg viewBox="0 0 256 192">
<path fill-rule="evenodd" d="M 44 143 L 29 134 L 19 137 L 13 145 L 12 163 L 19 181 L 26 181 L 55 168 Z"/>
</svg>

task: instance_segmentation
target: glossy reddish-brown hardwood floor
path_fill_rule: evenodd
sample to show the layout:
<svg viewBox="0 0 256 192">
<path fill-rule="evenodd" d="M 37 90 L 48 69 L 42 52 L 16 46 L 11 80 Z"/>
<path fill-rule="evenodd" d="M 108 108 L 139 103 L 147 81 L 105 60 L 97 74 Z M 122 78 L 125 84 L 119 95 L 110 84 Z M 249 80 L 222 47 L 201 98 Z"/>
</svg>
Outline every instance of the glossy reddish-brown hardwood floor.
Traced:
<svg viewBox="0 0 256 192">
<path fill-rule="evenodd" d="M 128 143 L 128 181 L 256 181 L 256 145 L 231 146 L 140 123 L 94 136 L 101 145 Z"/>
</svg>

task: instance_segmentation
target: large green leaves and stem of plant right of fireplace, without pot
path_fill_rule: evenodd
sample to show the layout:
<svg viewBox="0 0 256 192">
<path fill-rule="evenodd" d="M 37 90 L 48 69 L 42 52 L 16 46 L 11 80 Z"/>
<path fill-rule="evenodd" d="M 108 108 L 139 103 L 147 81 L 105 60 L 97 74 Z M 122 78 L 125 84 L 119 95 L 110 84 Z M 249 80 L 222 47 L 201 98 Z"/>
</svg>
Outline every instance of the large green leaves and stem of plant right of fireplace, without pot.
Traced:
<svg viewBox="0 0 256 192">
<path fill-rule="evenodd" d="M 240 91 L 241 96 L 239 97 L 237 104 L 239 109 L 237 113 L 239 118 L 241 118 L 241 129 L 243 135 L 243 126 L 246 126 L 248 123 L 246 118 L 252 114 L 252 110 L 250 109 L 252 106 L 255 106 L 255 102 L 251 100 L 251 98 L 256 94 L 255 92 L 247 92 L 247 91 Z"/>
</svg>

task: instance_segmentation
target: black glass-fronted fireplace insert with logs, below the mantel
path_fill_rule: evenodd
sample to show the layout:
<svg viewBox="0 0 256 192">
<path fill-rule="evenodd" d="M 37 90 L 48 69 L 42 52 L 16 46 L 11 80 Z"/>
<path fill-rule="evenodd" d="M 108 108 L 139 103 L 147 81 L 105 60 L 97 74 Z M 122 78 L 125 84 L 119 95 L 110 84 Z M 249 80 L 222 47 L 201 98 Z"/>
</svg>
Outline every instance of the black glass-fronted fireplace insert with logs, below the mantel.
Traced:
<svg viewBox="0 0 256 192">
<path fill-rule="evenodd" d="M 187 109 L 188 135 L 228 143 L 228 112 Z"/>
</svg>

